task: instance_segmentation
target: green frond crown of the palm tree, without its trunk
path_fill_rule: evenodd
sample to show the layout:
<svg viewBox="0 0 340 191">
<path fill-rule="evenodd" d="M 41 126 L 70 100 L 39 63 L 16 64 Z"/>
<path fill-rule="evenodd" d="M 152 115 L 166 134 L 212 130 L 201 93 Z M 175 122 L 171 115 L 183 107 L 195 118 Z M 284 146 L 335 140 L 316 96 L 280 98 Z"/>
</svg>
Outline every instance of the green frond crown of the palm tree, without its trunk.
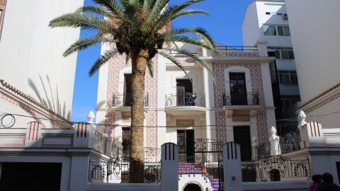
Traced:
<svg viewBox="0 0 340 191">
<path fill-rule="evenodd" d="M 125 54 L 129 58 L 131 51 L 138 50 L 147 50 L 149 53 L 146 64 L 150 74 L 152 74 L 152 58 L 156 54 L 161 54 L 183 70 L 181 63 L 172 58 L 169 51 L 179 52 L 191 57 L 212 74 L 207 64 L 202 59 L 199 59 L 196 54 L 181 50 L 176 45 L 177 42 L 189 43 L 217 52 L 215 42 L 209 33 L 203 28 L 166 28 L 171 21 L 179 16 L 195 13 L 208 15 L 205 11 L 185 9 L 204 0 L 185 1 L 182 4 L 173 6 L 168 6 L 169 0 L 94 1 L 98 6 L 83 6 L 74 13 L 68 13 L 50 21 L 51 27 L 80 27 L 98 30 L 96 36 L 85 37 L 74 42 L 64 52 L 65 57 L 72 54 L 72 52 L 83 50 L 97 43 L 113 45 L 113 50 L 104 52 L 98 58 L 89 72 L 90 75 L 94 74 L 100 66 L 105 64 L 111 57 L 115 57 L 116 54 Z M 185 33 L 196 35 L 200 40 L 188 37 Z M 213 78 L 215 80 L 215 77 Z"/>
</svg>

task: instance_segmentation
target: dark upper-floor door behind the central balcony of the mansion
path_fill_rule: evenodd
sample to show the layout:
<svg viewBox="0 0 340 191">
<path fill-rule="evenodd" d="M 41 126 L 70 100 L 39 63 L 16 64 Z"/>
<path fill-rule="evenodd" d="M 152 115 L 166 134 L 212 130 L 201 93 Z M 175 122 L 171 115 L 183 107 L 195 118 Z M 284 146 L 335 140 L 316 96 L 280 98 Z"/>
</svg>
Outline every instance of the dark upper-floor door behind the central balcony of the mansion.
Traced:
<svg viewBox="0 0 340 191">
<path fill-rule="evenodd" d="M 188 105 L 188 96 L 193 95 L 193 83 L 190 79 L 177 79 L 177 105 Z"/>
</svg>

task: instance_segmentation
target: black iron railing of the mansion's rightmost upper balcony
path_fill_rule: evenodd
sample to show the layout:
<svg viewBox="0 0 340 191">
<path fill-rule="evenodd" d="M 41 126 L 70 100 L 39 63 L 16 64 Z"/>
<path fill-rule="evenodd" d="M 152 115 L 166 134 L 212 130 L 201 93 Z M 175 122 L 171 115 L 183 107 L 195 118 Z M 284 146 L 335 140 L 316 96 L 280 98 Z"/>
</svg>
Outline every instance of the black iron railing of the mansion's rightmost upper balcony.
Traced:
<svg viewBox="0 0 340 191">
<path fill-rule="evenodd" d="M 259 94 L 223 93 L 223 105 L 259 105 Z"/>
</svg>

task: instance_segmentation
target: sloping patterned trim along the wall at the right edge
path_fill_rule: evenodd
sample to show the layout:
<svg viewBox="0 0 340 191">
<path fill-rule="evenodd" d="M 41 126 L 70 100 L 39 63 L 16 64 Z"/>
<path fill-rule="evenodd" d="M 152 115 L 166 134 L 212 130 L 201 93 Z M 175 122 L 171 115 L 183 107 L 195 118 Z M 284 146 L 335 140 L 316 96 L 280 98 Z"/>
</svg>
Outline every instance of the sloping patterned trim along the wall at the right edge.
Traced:
<svg viewBox="0 0 340 191">
<path fill-rule="evenodd" d="M 303 110 L 307 114 L 337 99 L 340 99 L 340 83 L 300 105 L 296 108 L 295 112 Z"/>
</svg>

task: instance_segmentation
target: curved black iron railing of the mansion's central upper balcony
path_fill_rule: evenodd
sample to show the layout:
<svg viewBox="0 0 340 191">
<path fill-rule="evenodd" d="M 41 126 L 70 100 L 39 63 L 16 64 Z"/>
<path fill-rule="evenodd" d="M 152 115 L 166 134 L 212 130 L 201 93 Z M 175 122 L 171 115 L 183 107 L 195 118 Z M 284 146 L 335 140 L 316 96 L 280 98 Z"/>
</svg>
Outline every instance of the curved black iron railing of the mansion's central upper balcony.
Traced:
<svg viewBox="0 0 340 191">
<path fill-rule="evenodd" d="M 180 93 L 165 96 L 165 107 L 176 106 L 198 106 L 205 107 L 205 94 L 201 93 Z"/>
</svg>

